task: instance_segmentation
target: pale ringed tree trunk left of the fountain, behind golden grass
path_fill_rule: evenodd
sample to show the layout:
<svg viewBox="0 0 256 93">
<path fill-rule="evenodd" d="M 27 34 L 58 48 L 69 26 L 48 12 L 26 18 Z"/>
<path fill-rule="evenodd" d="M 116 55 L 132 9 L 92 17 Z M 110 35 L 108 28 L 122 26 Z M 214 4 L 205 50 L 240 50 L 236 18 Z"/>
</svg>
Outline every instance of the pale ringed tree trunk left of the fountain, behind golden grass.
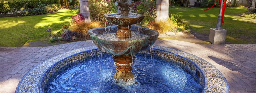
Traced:
<svg viewBox="0 0 256 93">
<path fill-rule="evenodd" d="M 79 5 L 80 5 L 80 13 L 83 15 L 84 21 L 91 22 L 89 0 L 80 0 Z"/>
</svg>

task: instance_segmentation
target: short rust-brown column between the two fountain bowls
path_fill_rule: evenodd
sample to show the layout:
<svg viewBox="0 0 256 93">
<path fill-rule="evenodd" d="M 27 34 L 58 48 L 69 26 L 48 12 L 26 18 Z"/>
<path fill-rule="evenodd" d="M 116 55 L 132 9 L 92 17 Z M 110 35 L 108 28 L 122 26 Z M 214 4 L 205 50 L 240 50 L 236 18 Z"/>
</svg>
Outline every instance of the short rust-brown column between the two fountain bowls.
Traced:
<svg viewBox="0 0 256 93">
<path fill-rule="evenodd" d="M 126 39 L 132 36 L 132 30 L 130 29 L 132 26 L 119 26 L 117 25 L 118 29 L 116 31 L 116 37 L 119 39 Z"/>
</svg>

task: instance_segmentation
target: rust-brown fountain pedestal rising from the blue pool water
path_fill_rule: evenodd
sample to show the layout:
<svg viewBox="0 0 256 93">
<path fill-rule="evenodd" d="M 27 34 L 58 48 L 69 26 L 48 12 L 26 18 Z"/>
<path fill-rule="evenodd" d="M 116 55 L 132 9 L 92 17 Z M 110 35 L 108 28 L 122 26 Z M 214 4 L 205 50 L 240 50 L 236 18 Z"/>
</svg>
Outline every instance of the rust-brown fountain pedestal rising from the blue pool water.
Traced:
<svg viewBox="0 0 256 93">
<path fill-rule="evenodd" d="M 114 78 L 117 83 L 133 83 L 133 73 L 132 73 L 132 56 L 131 55 L 113 55 L 114 64 L 116 65 L 116 73 Z M 135 55 L 133 55 L 133 60 Z M 121 84 L 122 85 L 122 84 Z"/>
</svg>

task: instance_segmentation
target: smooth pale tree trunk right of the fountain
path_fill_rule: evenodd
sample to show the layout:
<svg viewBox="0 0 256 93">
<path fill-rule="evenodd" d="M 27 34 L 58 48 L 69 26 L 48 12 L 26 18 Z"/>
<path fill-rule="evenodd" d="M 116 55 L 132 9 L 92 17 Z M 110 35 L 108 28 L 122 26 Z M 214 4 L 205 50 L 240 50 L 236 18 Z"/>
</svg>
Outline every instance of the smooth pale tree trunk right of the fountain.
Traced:
<svg viewBox="0 0 256 93">
<path fill-rule="evenodd" d="M 168 20 L 169 3 L 168 0 L 156 0 L 156 21 Z"/>
</svg>

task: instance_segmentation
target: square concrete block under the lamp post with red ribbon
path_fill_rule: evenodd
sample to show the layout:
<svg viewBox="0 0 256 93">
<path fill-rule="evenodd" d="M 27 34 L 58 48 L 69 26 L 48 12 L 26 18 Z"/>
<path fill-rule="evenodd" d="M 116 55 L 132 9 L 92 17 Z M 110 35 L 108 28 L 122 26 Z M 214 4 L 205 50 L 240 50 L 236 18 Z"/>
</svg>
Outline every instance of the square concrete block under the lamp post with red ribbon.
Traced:
<svg viewBox="0 0 256 93">
<path fill-rule="evenodd" d="M 227 34 L 226 29 L 218 30 L 218 29 L 210 28 L 209 41 L 212 44 L 225 44 L 226 34 Z"/>
</svg>

